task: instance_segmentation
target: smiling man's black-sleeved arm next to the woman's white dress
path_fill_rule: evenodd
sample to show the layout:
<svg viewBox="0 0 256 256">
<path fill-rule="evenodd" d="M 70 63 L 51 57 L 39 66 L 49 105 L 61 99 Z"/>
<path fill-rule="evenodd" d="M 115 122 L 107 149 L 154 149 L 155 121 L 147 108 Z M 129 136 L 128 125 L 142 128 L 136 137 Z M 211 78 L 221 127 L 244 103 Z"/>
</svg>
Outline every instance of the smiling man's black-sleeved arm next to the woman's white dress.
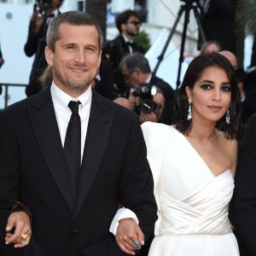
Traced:
<svg viewBox="0 0 256 256">
<path fill-rule="evenodd" d="M 125 152 L 125 169 L 120 183 L 120 193 L 121 203 L 135 212 L 147 240 L 154 230 L 157 207 L 146 144 L 137 116 L 134 116 Z"/>
</svg>

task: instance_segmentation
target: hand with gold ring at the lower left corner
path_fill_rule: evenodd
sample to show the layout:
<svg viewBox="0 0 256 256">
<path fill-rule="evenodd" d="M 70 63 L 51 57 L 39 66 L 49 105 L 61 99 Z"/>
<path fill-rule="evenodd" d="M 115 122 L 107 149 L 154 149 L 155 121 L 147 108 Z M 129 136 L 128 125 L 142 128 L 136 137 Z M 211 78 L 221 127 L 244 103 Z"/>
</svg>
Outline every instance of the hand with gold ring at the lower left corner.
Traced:
<svg viewBox="0 0 256 256">
<path fill-rule="evenodd" d="M 15 233 L 10 233 L 15 229 Z M 9 215 L 6 225 L 5 243 L 14 243 L 15 247 L 25 247 L 32 236 L 30 218 L 26 212 L 13 212 Z"/>
</svg>

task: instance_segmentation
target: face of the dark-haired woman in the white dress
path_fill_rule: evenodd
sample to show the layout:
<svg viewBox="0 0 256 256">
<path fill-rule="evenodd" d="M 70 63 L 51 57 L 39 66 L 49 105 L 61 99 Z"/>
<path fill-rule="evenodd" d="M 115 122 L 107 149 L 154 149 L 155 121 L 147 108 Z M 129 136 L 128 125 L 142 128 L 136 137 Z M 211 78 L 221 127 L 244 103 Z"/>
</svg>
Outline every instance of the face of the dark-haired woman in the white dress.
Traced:
<svg viewBox="0 0 256 256">
<path fill-rule="evenodd" d="M 217 122 L 227 112 L 231 100 L 231 84 L 227 73 L 220 67 L 207 67 L 195 82 L 194 88 L 186 87 L 192 102 L 192 119 Z"/>
</svg>

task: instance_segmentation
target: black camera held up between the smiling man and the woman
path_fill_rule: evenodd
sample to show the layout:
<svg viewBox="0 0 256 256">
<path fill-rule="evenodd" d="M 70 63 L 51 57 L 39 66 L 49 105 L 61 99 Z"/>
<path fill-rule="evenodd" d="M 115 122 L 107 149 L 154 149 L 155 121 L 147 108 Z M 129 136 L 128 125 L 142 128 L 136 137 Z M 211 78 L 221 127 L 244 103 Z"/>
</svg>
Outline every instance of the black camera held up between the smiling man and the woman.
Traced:
<svg viewBox="0 0 256 256">
<path fill-rule="evenodd" d="M 157 87 L 148 83 L 139 84 L 135 88 L 133 95 L 140 98 L 140 103 L 135 106 L 134 111 L 139 114 L 154 112 L 158 108 L 158 104 L 154 102 L 153 97 L 156 95 Z"/>
</svg>

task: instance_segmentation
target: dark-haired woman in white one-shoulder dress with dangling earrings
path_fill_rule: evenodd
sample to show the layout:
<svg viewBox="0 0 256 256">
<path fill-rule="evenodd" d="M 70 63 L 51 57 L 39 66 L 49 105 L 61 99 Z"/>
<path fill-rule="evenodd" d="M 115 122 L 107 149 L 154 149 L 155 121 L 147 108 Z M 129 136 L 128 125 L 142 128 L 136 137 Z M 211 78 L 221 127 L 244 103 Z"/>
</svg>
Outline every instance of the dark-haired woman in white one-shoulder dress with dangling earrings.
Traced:
<svg viewBox="0 0 256 256">
<path fill-rule="evenodd" d="M 201 55 L 177 91 L 175 125 L 142 125 L 158 204 L 149 256 L 239 255 L 228 218 L 239 103 L 230 62 Z"/>
</svg>

